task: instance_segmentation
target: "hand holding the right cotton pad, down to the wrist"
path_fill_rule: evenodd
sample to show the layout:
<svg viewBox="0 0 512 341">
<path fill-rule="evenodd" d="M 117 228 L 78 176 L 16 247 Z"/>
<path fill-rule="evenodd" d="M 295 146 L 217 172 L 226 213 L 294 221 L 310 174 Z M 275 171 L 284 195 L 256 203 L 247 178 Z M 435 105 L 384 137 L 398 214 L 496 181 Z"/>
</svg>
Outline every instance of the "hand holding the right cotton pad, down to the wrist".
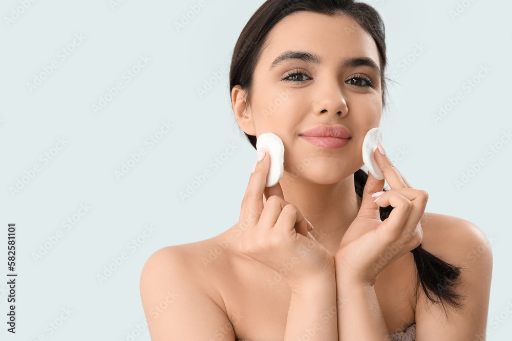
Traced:
<svg viewBox="0 0 512 341">
<path fill-rule="evenodd" d="M 344 278 L 371 285 L 382 269 L 421 244 L 419 221 L 429 198 L 427 192 L 413 189 L 378 148 L 374 156 L 391 190 L 374 202 L 372 194 L 382 191 L 385 181 L 369 174 L 361 208 L 334 255 L 336 273 L 341 271 Z M 393 211 L 381 221 L 379 207 L 389 205 Z"/>
</svg>

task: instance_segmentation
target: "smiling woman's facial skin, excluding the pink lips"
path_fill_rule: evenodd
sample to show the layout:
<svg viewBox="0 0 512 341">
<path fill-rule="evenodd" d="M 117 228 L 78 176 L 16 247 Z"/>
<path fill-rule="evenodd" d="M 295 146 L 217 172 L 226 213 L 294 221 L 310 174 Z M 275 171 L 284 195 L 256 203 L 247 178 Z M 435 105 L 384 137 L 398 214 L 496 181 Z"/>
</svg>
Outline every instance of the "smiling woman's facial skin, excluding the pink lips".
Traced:
<svg viewBox="0 0 512 341">
<path fill-rule="evenodd" d="M 293 58 L 273 65 L 289 51 L 317 56 L 321 63 Z M 346 64 L 353 58 L 366 62 Z M 278 135 L 285 147 L 285 172 L 292 177 L 336 183 L 364 164 L 362 142 L 368 130 L 379 126 L 379 69 L 373 38 L 352 18 L 292 13 L 269 32 L 255 67 L 250 108 L 239 124 L 257 138 L 265 132 Z M 320 124 L 345 127 L 347 145 L 325 149 L 300 136 Z"/>
</svg>

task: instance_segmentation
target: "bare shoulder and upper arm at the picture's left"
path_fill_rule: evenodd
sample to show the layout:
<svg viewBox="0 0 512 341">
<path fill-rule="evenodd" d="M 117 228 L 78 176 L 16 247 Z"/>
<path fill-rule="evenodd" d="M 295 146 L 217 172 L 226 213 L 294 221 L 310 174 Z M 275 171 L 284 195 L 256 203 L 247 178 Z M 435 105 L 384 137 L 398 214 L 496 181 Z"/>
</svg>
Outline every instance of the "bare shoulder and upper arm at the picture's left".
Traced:
<svg viewBox="0 0 512 341">
<path fill-rule="evenodd" d="M 200 280 L 198 249 L 204 242 L 167 246 L 153 253 L 140 276 L 140 297 L 152 340 L 209 339 L 229 326 L 226 313 Z M 232 339 L 232 329 L 217 335 Z"/>
</svg>

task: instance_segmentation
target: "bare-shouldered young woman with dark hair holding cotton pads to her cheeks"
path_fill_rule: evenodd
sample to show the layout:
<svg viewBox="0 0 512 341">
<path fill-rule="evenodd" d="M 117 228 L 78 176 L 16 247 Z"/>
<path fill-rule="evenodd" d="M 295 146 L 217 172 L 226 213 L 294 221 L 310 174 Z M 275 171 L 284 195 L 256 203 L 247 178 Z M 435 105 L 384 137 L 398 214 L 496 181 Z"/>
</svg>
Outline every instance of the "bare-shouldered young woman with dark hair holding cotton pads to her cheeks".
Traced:
<svg viewBox="0 0 512 341">
<path fill-rule="evenodd" d="M 231 101 L 254 148 L 265 132 L 282 139 L 285 174 L 265 188 L 261 152 L 236 225 L 147 260 L 140 292 L 153 341 L 485 339 L 484 234 L 424 213 L 428 193 L 382 145 L 374 156 L 391 189 L 360 169 L 386 64 L 369 5 L 268 0 L 254 13 L 234 49 Z"/>
</svg>

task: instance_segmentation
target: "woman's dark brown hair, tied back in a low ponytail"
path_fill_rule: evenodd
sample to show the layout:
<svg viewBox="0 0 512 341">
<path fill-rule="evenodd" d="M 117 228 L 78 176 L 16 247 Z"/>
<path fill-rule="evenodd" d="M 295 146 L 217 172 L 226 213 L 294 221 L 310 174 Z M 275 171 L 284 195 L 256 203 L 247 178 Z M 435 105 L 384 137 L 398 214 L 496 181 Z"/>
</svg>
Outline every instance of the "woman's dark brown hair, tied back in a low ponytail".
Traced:
<svg viewBox="0 0 512 341">
<path fill-rule="evenodd" d="M 326 15 L 345 14 L 353 18 L 374 39 L 379 53 L 382 108 L 386 106 L 386 34 L 384 22 L 379 13 L 370 5 L 354 0 L 267 0 L 249 19 L 234 47 L 229 72 L 229 93 L 235 85 L 246 90 L 246 104 L 249 104 L 253 87 L 253 73 L 266 37 L 272 27 L 287 15 L 297 11 L 311 11 Z M 256 149 L 256 137 L 245 133 L 250 144 Z M 362 197 L 368 174 L 362 169 L 354 173 L 356 193 Z M 392 206 L 380 208 L 380 219 L 385 220 Z M 411 251 L 416 264 L 418 284 L 421 284 L 426 297 L 435 304 L 445 304 L 461 308 L 463 295 L 455 288 L 460 279 L 461 268 L 446 263 L 421 247 Z M 418 289 L 418 288 L 416 288 Z M 417 292 L 418 290 L 416 290 Z M 447 315 L 447 313 L 446 313 Z"/>
</svg>

